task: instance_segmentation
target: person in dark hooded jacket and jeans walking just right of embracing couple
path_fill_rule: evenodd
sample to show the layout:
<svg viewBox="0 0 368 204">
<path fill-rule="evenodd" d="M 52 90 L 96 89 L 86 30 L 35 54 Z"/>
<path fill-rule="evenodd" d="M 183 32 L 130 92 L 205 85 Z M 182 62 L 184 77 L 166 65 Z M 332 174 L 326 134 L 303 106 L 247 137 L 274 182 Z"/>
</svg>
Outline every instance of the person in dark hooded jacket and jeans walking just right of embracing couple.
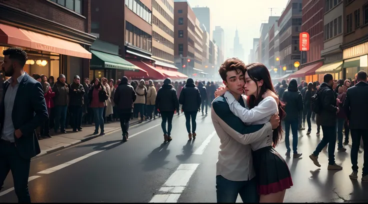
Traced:
<svg viewBox="0 0 368 204">
<path fill-rule="evenodd" d="M 297 82 L 295 79 L 291 79 L 290 83 L 282 94 L 282 101 L 286 103 L 285 112 L 286 116 L 284 118 L 285 122 L 285 145 L 286 145 L 286 156 L 290 156 L 290 126 L 292 133 L 292 151 L 293 157 L 297 158 L 301 156 L 301 153 L 297 152 L 297 130 L 299 125 L 299 114 L 302 113 L 303 110 L 303 97 L 301 96 L 300 91 L 297 88 Z"/>
</svg>

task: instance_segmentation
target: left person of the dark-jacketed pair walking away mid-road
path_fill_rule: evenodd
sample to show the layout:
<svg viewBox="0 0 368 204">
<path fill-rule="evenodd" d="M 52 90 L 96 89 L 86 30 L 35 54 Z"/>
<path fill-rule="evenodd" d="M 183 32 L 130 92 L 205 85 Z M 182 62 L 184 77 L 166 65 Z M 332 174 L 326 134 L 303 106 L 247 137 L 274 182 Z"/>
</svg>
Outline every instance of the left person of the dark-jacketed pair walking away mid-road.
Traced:
<svg viewBox="0 0 368 204">
<path fill-rule="evenodd" d="M 171 79 L 166 78 L 161 88 L 157 91 L 155 108 L 161 114 L 161 127 L 163 131 L 164 142 L 171 141 L 172 117 L 175 110 L 179 112 L 179 101 L 177 100 L 176 90 L 171 85 Z M 166 130 L 167 121 L 167 130 Z"/>
</svg>

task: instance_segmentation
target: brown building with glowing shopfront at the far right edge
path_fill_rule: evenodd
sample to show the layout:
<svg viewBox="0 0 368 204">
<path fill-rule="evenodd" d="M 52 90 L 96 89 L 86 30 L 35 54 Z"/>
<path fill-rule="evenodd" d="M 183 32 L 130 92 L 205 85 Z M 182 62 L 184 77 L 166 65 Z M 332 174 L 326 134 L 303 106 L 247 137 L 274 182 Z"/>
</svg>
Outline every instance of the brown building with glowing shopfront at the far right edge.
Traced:
<svg viewBox="0 0 368 204">
<path fill-rule="evenodd" d="M 368 0 L 346 0 L 343 5 L 343 78 L 368 72 Z"/>
</svg>

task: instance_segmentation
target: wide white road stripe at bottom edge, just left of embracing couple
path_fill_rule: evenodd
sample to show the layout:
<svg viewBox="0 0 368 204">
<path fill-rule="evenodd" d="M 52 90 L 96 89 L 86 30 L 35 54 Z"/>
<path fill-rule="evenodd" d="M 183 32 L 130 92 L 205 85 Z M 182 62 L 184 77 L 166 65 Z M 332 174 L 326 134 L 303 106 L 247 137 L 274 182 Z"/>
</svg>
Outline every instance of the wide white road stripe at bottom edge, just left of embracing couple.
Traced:
<svg viewBox="0 0 368 204">
<path fill-rule="evenodd" d="M 199 163 L 180 164 L 159 189 L 160 192 L 169 194 L 156 194 L 149 202 L 177 202 L 198 165 Z"/>
</svg>

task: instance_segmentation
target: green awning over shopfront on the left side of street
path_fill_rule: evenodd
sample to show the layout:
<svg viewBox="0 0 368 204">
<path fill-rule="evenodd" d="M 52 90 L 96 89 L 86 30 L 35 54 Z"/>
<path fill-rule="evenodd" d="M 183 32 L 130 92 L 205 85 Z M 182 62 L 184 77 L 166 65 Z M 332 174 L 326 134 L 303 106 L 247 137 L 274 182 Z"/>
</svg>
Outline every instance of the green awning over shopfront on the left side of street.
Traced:
<svg viewBox="0 0 368 204">
<path fill-rule="evenodd" d="M 115 68 L 123 70 L 139 71 L 139 69 L 132 63 L 125 59 L 96 50 L 90 50 L 92 52 L 92 58 L 90 59 L 90 69 L 105 69 Z"/>
</svg>

